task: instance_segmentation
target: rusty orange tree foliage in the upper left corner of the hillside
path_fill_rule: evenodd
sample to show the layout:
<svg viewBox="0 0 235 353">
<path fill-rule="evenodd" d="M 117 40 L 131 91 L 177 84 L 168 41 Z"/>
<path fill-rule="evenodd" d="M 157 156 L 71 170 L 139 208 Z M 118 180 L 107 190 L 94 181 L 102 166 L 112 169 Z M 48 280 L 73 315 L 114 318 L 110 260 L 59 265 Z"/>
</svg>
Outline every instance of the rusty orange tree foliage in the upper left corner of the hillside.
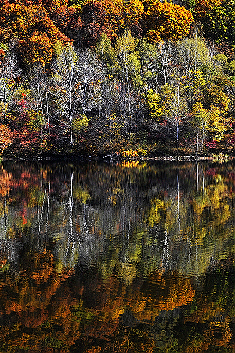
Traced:
<svg viewBox="0 0 235 353">
<path fill-rule="evenodd" d="M 7 43 L 12 36 L 19 38 L 19 52 L 27 64 L 49 63 L 57 40 L 61 40 L 63 45 L 71 44 L 71 40 L 60 33 L 41 5 L 2 6 L 0 40 Z"/>
</svg>

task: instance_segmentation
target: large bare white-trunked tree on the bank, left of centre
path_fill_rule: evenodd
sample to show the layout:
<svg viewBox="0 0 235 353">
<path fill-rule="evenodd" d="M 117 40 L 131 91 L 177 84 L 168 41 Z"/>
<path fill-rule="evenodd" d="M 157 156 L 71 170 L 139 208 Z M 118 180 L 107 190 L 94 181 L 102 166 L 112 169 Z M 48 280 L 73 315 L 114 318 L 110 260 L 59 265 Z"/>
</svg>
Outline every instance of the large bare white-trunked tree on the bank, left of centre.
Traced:
<svg viewBox="0 0 235 353">
<path fill-rule="evenodd" d="M 98 105 L 101 65 L 90 50 L 64 49 L 53 63 L 55 115 L 73 146 L 73 121 Z M 84 116 L 83 116 L 84 117 Z"/>
</svg>

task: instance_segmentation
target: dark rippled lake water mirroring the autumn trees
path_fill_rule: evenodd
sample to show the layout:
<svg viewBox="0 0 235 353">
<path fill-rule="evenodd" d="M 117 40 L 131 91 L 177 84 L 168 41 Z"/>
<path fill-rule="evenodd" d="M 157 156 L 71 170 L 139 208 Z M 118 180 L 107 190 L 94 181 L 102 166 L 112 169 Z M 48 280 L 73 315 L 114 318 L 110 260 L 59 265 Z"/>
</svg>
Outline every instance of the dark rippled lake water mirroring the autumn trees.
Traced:
<svg viewBox="0 0 235 353">
<path fill-rule="evenodd" d="M 235 165 L 0 165 L 0 352 L 233 352 Z"/>
</svg>

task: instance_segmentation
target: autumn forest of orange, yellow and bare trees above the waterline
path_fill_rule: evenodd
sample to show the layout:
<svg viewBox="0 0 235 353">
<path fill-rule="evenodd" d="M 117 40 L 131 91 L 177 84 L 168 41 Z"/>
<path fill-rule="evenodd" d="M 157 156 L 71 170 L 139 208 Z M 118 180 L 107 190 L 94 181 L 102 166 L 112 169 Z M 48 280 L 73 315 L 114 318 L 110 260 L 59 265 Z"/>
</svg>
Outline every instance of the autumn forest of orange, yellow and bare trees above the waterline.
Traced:
<svg viewBox="0 0 235 353">
<path fill-rule="evenodd" d="M 0 156 L 233 155 L 234 0 L 1 0 Z"/>
</svg>

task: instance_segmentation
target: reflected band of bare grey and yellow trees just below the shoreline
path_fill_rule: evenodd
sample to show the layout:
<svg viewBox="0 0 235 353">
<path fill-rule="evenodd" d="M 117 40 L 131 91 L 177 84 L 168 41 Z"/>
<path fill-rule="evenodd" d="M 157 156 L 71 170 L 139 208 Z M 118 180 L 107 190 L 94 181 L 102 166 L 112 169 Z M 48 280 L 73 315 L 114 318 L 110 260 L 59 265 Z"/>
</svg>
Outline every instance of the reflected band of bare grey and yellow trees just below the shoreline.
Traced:
<svg viewBox="0 0 235 353">
<path fill-rule="evenodd" d="M 53 244 L 65 266 L 97 262 L 105 278 L 119 263 L 130 283 L 139 271 L 202 273 L 233 249 L 232 165 L 5 163 L 1 173 L 2 235 Z"/>
</svg>

